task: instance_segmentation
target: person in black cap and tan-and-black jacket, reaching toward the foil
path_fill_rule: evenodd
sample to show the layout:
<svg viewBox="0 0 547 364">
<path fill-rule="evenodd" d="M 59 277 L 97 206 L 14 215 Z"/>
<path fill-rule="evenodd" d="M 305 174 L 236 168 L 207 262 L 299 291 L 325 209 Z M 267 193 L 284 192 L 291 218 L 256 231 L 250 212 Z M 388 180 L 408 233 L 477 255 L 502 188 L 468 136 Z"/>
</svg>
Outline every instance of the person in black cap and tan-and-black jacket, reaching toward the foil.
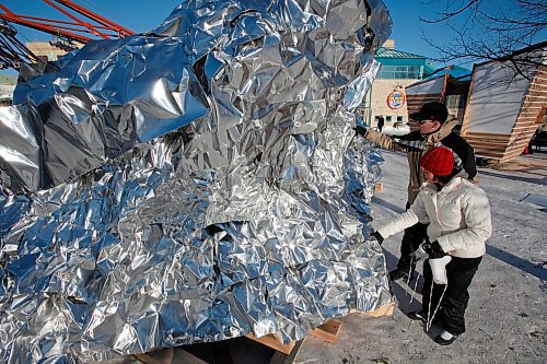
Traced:
<svg viewBox="0 0 547 364">
<path fill-rule="evenodd" d="M 456 166 L 464 169 L 467 178 L 473 179 L 477 175 L 473 148 L 462 137 L 453 132 L 458 121 L 452 116 L 449 118 L 449 111 L 443 104 L 437 102 L 423 104 L 418 113 L 409 116 L 418 121 L 419 130 L 404 136 L 386 136 L 372 129 L 356 127 L 356 132 L 363 136 L 368 141 L 384 149 L 407 153 L 410 173 L 406 209 L 415 201 L 423 180 L 420 172 L 420 157 L 433 146 L 444 145 L 450 148 L 455 153 Z M 401 278 L 408 280 L 412 278 L 416 267 L 412 253 L 423 242 L 426 228 L 427 225 L 417 223 L 405 230 L 400 243 L 400 258 L 397 262 L 397 269 L 389 272 L 391 280 L 396 281 Z"/>
</svg>

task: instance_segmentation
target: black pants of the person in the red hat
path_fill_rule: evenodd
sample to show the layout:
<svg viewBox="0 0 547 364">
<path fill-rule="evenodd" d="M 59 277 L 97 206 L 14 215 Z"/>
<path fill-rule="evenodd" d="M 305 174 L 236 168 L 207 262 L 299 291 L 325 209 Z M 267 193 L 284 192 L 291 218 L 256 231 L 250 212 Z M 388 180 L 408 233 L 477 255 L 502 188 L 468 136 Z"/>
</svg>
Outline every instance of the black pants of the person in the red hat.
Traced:
<svg viewBox="0 0 547 364">
<path fill-rule="evenodd" d="M 441 305 L 435 314 L 434 320 L 440 322 L 444 330 L 450 333 L 461 334 L 465 332 L 465 309 L 469 302 L 469 293 L 467 289 L 472 284 L 473 277 L 478 269 L 482 257 L 479 258 L 456 258 L 446 265 L 446 275 L 449 284 L 446 284 L 446 292 L 441 301 Z M 441 295 L 444 291 L 444 284 L 433 283 L 433 294 L 431 295 L 431 283 L 433 277 L 431 274 L 431 267 L 429 259 L 423 263 L 423 290 L 421 294 L 422 309 L 432 315 L 439 305 Z M 430 304 L 431 295 L 431 308 Z"/>
</svg>

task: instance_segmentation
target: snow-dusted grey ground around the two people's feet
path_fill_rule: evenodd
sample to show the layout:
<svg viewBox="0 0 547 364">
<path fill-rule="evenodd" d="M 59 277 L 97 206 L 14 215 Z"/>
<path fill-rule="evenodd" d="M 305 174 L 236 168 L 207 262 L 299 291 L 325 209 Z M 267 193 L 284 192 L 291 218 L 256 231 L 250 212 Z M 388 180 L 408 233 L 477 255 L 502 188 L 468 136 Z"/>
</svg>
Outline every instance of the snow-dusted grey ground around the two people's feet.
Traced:
<svg viewBox="0 0 547 364">
<path fill-rule="evenodd" d="M 407 193 L 406 155 L 383 151 L 383 156 L 375 227 L 403 211 Z M 547 154 L 480 168 L 479 177 L 490 199 L 493 235 L 470 287 L 467 332 L 450 347 L 438 345 L 432 337 L 439 328 L 428 336 L 405 315 L 420 307 L 421 296 L 410 303 L 411 287 L 399 281 L 392 285 L 398 302 L 393 317 L 350 315 L 336 345 L 309 337 L 294 363 L 547 363 L 547 209 L 526 202 L 547 199 Z M 384 242 L 389 269 L 400 237 Z"/>
</svg>

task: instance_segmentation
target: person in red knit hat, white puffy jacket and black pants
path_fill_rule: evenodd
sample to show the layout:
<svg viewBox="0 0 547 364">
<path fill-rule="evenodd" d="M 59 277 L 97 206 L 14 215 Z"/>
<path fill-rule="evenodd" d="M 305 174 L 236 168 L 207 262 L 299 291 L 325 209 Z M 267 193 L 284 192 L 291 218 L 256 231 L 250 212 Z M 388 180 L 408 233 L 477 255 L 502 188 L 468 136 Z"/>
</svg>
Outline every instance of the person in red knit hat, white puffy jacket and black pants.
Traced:
<svg viewBox="0 0 547 364">
<path fill-rule="evenodd" d="M 408 317 L 423 321 L 428 330 L 434 319 L 443 329 L 435 342 L 449 345 L 465 332 L 468 287 L 492 234 L 490 204 L 482 189 L 462 177 L 451 150 L 433 148 L 420 165 L 426 183 L 412 206 L 371 236 L 382 244 L 418 222 L 429 224 L 428 239 L 419 248 L 428 257 L 422 306 Z"/>
</svg>

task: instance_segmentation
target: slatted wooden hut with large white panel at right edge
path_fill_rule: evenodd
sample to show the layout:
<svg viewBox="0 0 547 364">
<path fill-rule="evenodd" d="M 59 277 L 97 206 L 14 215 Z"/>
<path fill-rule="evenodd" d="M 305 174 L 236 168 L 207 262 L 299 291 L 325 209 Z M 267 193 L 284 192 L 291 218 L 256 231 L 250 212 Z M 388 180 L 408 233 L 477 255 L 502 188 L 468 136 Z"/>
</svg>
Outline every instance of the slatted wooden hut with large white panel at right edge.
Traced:
<svg viewBox="0 0 547 364">
<path fill-rule="evenodd" d="M 547 109 L 547 43 L 523 49 L 513 59 L 533 59 L 519 72 L 503 59 L 475 64 L 462 137 L 478 157 L 503 163 L 521 155 Z"/>
</svg>

